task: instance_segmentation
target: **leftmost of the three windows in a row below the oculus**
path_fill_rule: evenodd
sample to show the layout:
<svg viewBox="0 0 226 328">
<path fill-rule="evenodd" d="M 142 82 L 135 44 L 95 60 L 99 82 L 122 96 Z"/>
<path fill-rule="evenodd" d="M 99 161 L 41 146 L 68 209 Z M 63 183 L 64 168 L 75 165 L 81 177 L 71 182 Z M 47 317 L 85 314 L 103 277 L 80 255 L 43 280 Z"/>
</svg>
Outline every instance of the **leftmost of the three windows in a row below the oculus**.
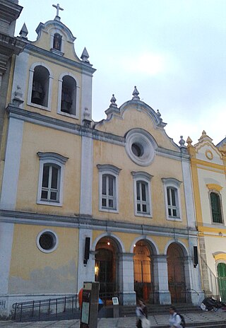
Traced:
<svg viewBox="0 0 226 328">
<path fill-rule="evenodd" d="M 116 209 L 116 188 L 113 175 L 102 175 L 102 209 Z"/>
</svg>

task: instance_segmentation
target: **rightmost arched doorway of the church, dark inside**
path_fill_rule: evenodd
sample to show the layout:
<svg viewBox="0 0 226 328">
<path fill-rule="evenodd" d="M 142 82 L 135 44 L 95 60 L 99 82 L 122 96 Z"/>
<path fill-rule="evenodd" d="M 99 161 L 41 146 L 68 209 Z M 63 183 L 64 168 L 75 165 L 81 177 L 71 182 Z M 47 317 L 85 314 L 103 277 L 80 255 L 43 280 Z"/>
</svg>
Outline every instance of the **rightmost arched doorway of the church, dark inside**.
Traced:
<svg viewBox="0 0 226 328">
<path fill-rule="evenodd" d="M 186 283 L 184 276 L 184 253 L 176 242 L 167 250 L 167 269 L 169 292 L 172 303 L 186 302 Z"/>
</svg>

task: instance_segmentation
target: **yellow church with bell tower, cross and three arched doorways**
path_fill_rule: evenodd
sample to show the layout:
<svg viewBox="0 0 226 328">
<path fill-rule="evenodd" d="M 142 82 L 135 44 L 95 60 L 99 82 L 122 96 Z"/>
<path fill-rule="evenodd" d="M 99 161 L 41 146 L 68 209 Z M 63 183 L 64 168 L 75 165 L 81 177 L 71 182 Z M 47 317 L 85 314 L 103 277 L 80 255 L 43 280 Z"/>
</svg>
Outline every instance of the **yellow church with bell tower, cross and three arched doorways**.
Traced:
<svg viewBox="0 0 226 328">
<path fill-rule="evenodd" d="M 95 69 L 57 16 L 12 71 L 0 214 L 1 315 L 100 281 L 124 305 L 203 299 L 189 155 L 133 98 L 92 120 Z M 104 83 L 104 82 L 103 82 Z M 20 95 L 15 97 L 15 90 Z M 7 129 L 6 129 L 7 128 Z M 186 197 L 185 197 L 186 196 Z"/>
</svg>

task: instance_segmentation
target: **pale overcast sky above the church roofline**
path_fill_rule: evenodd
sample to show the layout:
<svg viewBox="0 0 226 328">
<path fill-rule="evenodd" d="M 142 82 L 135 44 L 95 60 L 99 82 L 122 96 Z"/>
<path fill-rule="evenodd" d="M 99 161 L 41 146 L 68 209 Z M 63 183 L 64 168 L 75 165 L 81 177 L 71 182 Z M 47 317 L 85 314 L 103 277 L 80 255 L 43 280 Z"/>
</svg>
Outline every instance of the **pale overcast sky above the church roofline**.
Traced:
<svg viewBox="0 0 226 328">
<path fill-rule="evenodd" d="M 53 20 L 53 0 L 19 0 L 28 39 Z M 226 0 L 64 0 L 61 22 L 86 47 L 93 77 L 93 119 L 106 118 L 112 93 L 118 107 L 140 98 L 159 110 L 167 134 L 194 144 L 203 129 L 218 144 L 226 136 Z"/>
</svg>

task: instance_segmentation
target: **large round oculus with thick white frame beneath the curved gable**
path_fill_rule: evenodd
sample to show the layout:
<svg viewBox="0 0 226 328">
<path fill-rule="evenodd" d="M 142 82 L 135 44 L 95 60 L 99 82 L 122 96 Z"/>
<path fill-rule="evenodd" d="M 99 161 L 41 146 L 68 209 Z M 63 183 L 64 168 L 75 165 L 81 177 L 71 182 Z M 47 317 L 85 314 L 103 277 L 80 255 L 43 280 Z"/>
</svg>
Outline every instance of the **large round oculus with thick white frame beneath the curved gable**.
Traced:
<svg viewBox="0 0 226 328">
<path fill-rule="evenodd" d="M 131 130 L 126 135 L 126 153 L 134 163 L 148 166 L 155 156 L 153 140 L 145 131 Z"/>
</svg>

